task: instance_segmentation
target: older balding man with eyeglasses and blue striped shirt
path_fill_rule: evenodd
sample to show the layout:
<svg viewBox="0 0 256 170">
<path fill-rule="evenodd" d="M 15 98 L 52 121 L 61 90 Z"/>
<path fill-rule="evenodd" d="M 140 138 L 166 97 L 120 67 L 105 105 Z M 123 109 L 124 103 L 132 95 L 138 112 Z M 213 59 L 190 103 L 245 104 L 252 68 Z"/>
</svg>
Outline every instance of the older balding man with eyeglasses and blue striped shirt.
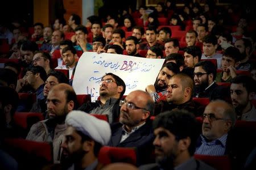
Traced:
<svg viewBox="0 0 256 170">
<path fill-rule="evenodd" d="M 221 156 L 226 151 L 228 132 L 236 123 L 236 112 L 225 101 L 210 102 L 204 110 L 203 134 L 195 154 Z"/>
</svg>

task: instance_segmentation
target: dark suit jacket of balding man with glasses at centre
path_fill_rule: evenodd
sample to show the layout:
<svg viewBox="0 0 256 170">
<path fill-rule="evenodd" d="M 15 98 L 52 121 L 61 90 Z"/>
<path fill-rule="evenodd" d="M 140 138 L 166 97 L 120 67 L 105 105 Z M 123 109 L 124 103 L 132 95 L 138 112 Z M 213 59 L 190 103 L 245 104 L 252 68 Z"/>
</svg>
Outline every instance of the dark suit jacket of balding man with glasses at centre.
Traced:
<svg viewBox="0 0 256 170">
<path fill-rule="evenodd" d="M 120 143 L 123 134 L 122 126 L 121 123 L 116 123 L 111 126 L 112 137 L 110 138 L 109 146 L 136 147 L 137 165 L 152 163 L 154 161 L 152 156 L 154 151 L 152 121 L 148 120 L 146 124 L 134 131 L 125 141 Z"/>
</svg>

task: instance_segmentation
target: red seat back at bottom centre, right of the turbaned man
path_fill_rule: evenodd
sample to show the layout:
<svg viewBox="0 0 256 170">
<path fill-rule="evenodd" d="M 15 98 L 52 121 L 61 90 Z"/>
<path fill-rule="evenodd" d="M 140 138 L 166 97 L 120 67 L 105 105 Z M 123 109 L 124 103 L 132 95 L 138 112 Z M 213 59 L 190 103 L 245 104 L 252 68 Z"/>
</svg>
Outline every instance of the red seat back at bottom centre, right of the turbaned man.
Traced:
<svg viewBox="0 0 256 170">
<path fill-rule="evenodd" d="M 137 158 L 133 148 L 104 146 L 98 154 L 98 160 L 105 165 L 115 162 L 125 162 L 135 165 Z"/>
</svg>

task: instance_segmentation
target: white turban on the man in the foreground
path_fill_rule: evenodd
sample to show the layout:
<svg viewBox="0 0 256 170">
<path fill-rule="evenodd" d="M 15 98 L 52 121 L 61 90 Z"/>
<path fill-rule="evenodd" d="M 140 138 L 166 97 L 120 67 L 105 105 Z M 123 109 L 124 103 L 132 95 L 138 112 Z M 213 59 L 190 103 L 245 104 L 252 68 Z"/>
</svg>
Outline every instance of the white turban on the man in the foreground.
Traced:
<svg viewBox="0 0 256 170">
<path fill-rule="evenodd" d="M 108 145 L 111 137 L 109 123 L 82 111 L 69 112 L 65 123 L 73 126 L 101 145 Z"/>
</svg>

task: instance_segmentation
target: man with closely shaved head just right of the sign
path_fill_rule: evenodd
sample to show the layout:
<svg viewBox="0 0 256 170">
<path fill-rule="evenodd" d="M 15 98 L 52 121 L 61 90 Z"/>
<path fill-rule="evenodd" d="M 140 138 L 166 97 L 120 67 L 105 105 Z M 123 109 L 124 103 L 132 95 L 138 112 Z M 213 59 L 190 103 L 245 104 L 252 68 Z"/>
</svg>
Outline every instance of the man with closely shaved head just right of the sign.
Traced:
<svg viewBox="0 0 256 170">
<path fill-rule="evenodd" d="M 193 80 L 184 73 L 179 73 L 169 80 L 166 101 L 156 104 L 155 115 L 173 109 L 185 109 L 194 114 L 198 113 L 192 100 Z"/>
</svg>

